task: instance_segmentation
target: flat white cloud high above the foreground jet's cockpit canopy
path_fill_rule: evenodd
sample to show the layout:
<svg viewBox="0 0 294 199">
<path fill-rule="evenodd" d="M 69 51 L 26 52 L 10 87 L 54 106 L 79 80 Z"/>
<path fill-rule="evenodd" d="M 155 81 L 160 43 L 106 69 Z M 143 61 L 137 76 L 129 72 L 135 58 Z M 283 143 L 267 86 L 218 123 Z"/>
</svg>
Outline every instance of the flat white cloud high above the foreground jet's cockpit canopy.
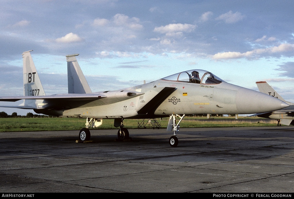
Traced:
<svg viewBox="0 0 294 199">
<path fill-rule="evenodd" d="M 171 34 L 177 32 L 191 32 L 196 28 L 196 25 L 192 24 L 168 24 L 166 26 L 155 27 L 154 32 L 162 34 Z"/>
</svg>

